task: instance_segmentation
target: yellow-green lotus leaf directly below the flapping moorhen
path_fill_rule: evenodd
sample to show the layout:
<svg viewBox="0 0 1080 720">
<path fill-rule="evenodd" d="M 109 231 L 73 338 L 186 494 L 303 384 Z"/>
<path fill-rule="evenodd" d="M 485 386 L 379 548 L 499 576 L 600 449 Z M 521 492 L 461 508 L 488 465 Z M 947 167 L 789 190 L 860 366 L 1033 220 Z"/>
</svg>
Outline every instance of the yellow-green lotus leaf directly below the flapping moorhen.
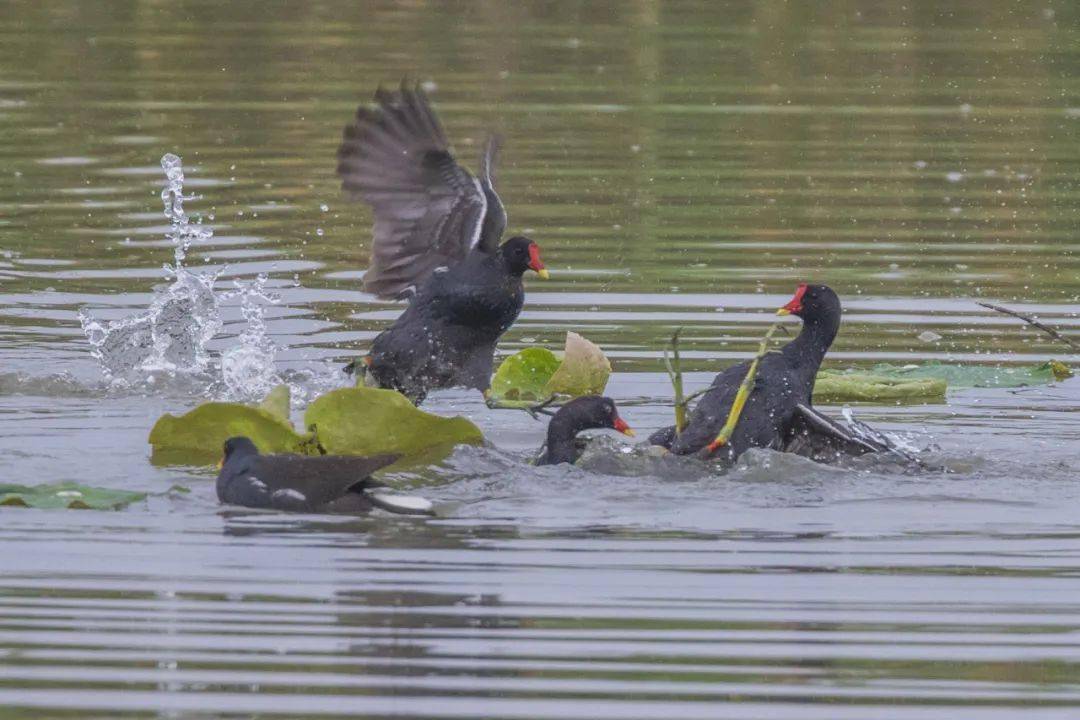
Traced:
<svg viewBox="0 0 1080 720">
<path fill-rule="evenodd" d="M 465 418 L 420 410 L 393 390 L 343 388 L 308 406 L 305 425 L 329 454 L 392 453 L 432 459 L 456 445 L 480 445 L 484 435 Z"/>
</svg>

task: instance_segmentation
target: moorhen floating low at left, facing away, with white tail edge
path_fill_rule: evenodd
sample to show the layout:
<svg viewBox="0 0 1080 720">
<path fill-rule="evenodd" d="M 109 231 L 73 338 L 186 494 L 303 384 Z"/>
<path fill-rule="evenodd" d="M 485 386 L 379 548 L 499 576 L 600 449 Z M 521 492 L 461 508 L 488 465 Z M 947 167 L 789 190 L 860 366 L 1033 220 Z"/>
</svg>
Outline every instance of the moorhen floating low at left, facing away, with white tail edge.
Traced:
<svg viewBox="0 0 1080 720">
<path fill-rule="evenodd" d="M 372 479 L 396 456 L 259 454 L 247 437 L 230 437 L 217 476 L 217 499 L 230 505 L 297 513 L 366 513 L 374 507 L 404 515 L 430 515 L 422 498 L 379 492 Z"/>
</svg>

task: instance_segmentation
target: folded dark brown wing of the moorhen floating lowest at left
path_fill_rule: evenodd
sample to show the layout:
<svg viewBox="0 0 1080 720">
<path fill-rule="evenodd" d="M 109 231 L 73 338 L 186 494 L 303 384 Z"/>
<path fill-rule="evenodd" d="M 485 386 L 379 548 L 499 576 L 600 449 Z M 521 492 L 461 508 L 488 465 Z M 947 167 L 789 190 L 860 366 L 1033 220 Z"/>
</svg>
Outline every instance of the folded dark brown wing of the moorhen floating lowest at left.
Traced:
<svg viewBox="0 0 1080 720">
<path fill-rule="evenodd" d="M 293 490 L 303 497 L 303 504 L 316 507 L 337 500 L 372 473 L 394 462 L 397 456 L 370 458 L 348 456 L 262 456 L 254 475 L 267 485 L 269 493 Z M 261 462 L 266 466 L 261 467 Z M 299 499 L 299 498 L 298 498 Z"/>
</svg>

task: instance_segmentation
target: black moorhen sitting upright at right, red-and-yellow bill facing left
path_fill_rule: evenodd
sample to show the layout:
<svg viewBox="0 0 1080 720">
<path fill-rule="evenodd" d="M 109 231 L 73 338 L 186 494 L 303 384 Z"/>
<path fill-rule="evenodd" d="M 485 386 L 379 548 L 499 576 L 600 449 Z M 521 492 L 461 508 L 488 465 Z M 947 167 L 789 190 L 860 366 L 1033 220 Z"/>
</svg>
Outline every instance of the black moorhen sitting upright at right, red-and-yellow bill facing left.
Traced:
<svg viewBox="0 0 1080 720">
<path fill-rule="evenodd" d="M 802 284 L 777 314 L 801 317 L 802 330 L 780 351 L 761 358 L 739 423 L 714 458 L 730 462 L 752 447 L 783 450 L 797 435 L 829 433 L 836 425 L 813 410 L 810 398 L 818 368 L 840 328 L 840 299 L 825 285 Z M 748 368 L 745 362 L 720 372 L 681 433 L 676 436 L 673 427 L 662 429 L 649 441 L 676 454 L 705 450 L 727 421 Z"/>
</svg>

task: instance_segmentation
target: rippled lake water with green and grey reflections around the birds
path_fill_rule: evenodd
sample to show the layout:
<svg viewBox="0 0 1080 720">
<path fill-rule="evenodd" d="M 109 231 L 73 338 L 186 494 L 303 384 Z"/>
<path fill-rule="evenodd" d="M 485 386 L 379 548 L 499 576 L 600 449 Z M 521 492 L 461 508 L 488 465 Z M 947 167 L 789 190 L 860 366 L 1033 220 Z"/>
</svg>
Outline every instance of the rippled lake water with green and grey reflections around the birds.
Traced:
<svg viewBox="0 0 1080 720">
<path fill-rule="evenodd" d="M 361 291 L 334 153 L 406 73 L 465 164 L 505 135 L 552 270 L 501 352 L 582 332 L 639 436 L 674 327 L 702 386 L 802 280 L 843 299 L 832 367 L 1074 359 L 975 304 L 1080 325 L 1069 3 L 4 3 L 0 479 L 154 494 L 0 510 L 0 717 L 1077 717 L 1080 380 L 856 408 L 948 475 L 534 468 L 543 425 L 463 391 L 426 409 L 491 447 L 411 478 L 438 519 L 224 510 L 208 468 L 151 465 L 207 392 L 110 388 L 78 313 L 167 284 L 160 158 L 215 233 L 188 264 L 280 295 L 302 400 L 400 312 Z"/>
</svg>

